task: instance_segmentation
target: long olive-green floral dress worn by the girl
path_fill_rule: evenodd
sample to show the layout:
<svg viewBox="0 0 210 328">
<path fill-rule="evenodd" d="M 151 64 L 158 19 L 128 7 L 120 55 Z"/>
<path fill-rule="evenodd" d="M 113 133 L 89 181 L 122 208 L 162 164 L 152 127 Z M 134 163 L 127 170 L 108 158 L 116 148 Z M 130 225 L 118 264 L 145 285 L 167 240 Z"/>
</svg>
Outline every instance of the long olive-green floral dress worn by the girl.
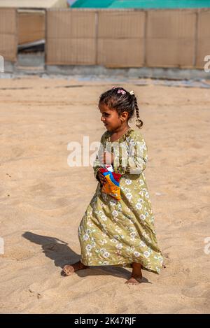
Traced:
<svg viewBox="0 0 210 328">
<path fill-rule="evenodd" d="M 104 132 L 99 151 L 107 143 L 110 145 L 110 136 L 109 131 Z M 120 178 L 121 199 L 117 201 L 102 192 L 102 185 L 98 183 L 78 227 L 80 260 L 87 266 L 131 267 L 137 262 L 141 263 L 142 269 L 160 273 L 163 257 L 155 235 L 153 210 L 144 176 L 147 145 L 141 133 L 132 128 L 111 145 L 119 146 L 119 143 L 113 169 L 123 175 Z M 134 145 L 134 156 L 128 152 L 130 143 Z M 140 145 L 138 156 L 137 144 Z M 123 151 L 127 152 L 126 164 L 123 163 Z M 93 164 L 95 178 L 102 166 L 97 155 Z"/>
</svg>

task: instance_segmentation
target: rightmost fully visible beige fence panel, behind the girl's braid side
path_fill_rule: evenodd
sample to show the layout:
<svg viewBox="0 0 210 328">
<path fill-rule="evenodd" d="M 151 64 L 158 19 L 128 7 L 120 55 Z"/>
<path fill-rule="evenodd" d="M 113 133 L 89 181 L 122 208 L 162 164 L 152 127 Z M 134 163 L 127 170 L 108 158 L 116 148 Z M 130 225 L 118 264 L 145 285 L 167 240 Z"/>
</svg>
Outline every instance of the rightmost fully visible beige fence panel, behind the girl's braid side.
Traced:
<svg viewBox="0 0 210 328">
<path fill-rule="evenodd" d="M 194 10 L 148 11 L 146 66 L 193 67 L 195 30 Z"/>
</svg>

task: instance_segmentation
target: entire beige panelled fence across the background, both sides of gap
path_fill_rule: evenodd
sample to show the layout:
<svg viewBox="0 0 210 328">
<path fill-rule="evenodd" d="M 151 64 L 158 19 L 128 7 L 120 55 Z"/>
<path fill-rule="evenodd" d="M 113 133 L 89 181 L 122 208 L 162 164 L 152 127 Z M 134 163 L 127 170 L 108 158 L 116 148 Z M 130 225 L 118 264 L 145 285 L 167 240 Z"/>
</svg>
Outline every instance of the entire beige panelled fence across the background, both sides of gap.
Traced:
<svg viewBox="0 0 210 328">
<path fill-rule="evenodd" d="M 204 57 L 210 55 L 207 9 L 53 8 L 46 11 L 45 18 L 48 65 L 203 69 Z M 0 8 L 0 55 L 11 62 L 16 60 L 17 21 L 15 8 Z"/>
</svg>

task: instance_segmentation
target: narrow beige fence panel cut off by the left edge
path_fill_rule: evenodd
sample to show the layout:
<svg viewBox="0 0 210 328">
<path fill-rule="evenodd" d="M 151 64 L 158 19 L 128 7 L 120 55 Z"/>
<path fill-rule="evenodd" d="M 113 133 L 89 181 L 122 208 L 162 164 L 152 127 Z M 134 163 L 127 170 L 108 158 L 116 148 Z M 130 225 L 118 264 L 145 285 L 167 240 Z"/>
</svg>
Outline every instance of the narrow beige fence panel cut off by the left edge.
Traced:
<svg viewBox="0 0 210 328">
<path fill-rule="evenodd" d="M 0 55 L 15 62 L 17 58 L 17 15 L 14 8 L 0 8 Z"/>
</svg>

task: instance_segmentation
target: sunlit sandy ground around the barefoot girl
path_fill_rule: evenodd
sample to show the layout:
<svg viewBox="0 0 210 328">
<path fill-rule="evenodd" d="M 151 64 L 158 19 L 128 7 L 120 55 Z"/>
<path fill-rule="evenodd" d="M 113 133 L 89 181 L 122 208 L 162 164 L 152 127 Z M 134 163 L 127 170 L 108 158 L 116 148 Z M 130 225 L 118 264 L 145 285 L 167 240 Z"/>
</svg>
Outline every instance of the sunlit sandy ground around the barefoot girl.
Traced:
<svg viewBox="0 0 210 328">
<path fill-rule="evenodd" d="M 120 83 L 139 97 L 146 180 L 165 256 L 160 275 L 113 266 L 60 275 L 97 181 L 67 165 L 70 141 L 99 141 L 99 94 L 119 85 L 1 79 L 1 313 L 209 313 L 210 90 Z M 131 124 L 134 127 L 134 124 Z M 206 247 L 206 252 L 204 248 Z"/>
</svg>

